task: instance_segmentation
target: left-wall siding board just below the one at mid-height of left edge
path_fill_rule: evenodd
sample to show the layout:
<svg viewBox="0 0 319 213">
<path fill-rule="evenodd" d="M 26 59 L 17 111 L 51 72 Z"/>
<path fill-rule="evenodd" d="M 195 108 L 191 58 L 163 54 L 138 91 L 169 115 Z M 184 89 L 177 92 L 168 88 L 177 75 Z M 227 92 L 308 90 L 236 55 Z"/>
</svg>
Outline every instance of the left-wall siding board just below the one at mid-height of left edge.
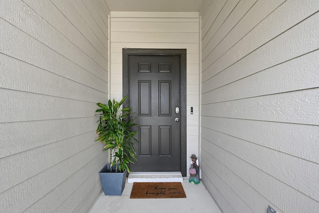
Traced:
<svg viewBox="0 0 319 213">
<path fill-rule="evenodd" d="M 87 117 L 0 123 L 0 158 L 92 132 L 96 121 Z"/>
</svg>

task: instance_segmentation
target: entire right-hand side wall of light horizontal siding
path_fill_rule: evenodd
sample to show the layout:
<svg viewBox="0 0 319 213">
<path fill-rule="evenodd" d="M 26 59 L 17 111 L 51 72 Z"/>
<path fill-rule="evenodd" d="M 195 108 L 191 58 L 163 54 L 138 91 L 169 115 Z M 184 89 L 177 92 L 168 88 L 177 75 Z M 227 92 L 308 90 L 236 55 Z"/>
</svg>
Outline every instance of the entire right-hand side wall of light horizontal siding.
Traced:
<svg viewBox="0 0 319 213">
<path fill-rule="evenodd" d="M 319 212 L 319 1 L 210 0 L 201 171 L 225 213 Z"/>
</svg>

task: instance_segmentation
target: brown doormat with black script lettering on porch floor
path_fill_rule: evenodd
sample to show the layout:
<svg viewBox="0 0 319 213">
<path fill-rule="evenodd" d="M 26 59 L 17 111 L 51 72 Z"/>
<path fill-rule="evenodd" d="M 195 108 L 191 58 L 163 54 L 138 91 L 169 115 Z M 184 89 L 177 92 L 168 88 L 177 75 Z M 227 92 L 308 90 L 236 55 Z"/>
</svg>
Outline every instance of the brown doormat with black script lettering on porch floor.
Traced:
<svg viewBox="0 0 319 213">
<path fill-rule="evenodd" d="M 186 198 L 186 195 L 180 182 L 135 182 L 130 198 Z"/>
</svg>

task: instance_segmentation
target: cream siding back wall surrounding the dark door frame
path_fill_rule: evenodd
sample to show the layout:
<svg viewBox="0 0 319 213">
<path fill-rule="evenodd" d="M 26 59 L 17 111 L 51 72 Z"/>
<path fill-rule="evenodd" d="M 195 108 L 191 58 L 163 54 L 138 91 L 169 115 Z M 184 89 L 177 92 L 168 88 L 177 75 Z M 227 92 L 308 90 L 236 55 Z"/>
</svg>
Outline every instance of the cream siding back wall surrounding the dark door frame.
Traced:
<svg viewBox="0 0 319 213">
<path fill-rule="evenodd" d="M 122 48 L 186 49 L 187 156 L 199 153 L 199 29 L 198 12 L 111 12 L 112 98 L 122 99 Z"/>
</svg>

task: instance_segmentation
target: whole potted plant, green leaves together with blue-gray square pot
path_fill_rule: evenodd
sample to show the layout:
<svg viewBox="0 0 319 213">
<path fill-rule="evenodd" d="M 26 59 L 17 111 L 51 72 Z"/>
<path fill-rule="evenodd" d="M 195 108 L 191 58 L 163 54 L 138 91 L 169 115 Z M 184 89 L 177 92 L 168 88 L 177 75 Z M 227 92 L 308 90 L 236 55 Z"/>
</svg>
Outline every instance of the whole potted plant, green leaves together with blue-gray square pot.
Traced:
<svg viewBox="0 0 319 213">
<path fill-rule="evenodd" d="M 108 104 L 97 103 L 100 119 L 96 141 L 105 144 L 102 151 L 110 150 L 110 164 L 99 173 L 105 195 L 122 195 L 127 172 L 130 173 L 128 164 L 136 160 L 134 141 L 138 143 L 138 140 L 134 136 L 137 131 L 131 132 L 131 127 L 137 124 L 133 122 L 135 118 L 130 119 L 134 112 L 131 108 L 120 109 L 126 99 L 127 96 L 120 102 L 113 99 Z"/>
</svg>

